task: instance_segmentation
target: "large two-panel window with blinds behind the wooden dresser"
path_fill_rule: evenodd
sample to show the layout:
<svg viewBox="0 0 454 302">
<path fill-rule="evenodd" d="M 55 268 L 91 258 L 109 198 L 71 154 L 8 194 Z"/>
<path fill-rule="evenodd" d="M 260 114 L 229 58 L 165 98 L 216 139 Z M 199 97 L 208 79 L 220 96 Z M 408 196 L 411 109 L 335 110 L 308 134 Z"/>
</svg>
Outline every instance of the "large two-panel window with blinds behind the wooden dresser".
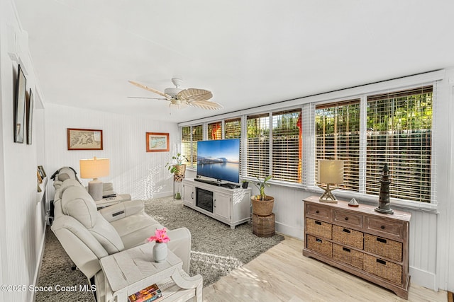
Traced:
<svg viewBox="0 0 454 302">
<path fill-rule="evenodd" d="M 387 163 L 390 197 L 431 202 L 432 91 L 425 86 L 368 95 L 365 121 L 360 99 L 316 105 L 316 160 L 343 160 L 341 187 L 373 195 L 380 194 Z"/>
</svg>

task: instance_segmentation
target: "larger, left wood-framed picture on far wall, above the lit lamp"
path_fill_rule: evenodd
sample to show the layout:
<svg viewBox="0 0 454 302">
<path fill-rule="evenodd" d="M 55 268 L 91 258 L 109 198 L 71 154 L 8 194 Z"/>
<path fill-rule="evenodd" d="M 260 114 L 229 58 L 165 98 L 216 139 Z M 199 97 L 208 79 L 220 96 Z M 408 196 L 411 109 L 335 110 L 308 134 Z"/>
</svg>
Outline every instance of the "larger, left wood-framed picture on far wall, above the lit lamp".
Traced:
<svg viewBox="0 0 454 302">
<path fill-rule="evenodd" d="M 67 128 L 68 150 L 102 150 L 102 130 Z"/>
</svg>

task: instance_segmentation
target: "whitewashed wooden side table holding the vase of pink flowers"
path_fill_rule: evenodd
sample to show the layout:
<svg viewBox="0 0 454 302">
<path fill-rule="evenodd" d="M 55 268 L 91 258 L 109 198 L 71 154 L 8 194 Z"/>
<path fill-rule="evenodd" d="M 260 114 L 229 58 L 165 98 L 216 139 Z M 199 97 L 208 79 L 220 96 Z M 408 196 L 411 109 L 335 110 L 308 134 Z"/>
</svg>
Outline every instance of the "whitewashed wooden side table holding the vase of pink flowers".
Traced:
<svg viewBox="0 0 454 302">
<path fill-rule="evenodd" d="M 165 262 L 153 262 L 153 245 L 145 243 L 100 260 L 106 277 L 106 302 L 127 302 L 128 296 L 151 284 L 162 291 L 162 301 L 202 301 L 203 279 L 189 277 L 182 260 L 168 250 Z"/>
</svg>

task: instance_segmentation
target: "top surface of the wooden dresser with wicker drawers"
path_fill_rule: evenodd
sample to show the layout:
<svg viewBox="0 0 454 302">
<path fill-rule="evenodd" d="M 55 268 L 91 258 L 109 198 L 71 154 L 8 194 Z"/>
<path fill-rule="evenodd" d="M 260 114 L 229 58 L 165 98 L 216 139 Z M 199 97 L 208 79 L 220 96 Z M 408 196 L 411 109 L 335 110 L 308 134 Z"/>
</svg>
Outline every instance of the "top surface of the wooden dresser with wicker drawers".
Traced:
<svg viewBox="0 0 454 302">
<path fill-rule="evenodd" d="M 411 214 L 404 211 L 396 211 L 393 209 L 394 214 L 382 214 L 375 211 L 376 208 L 375 206 L 371 206 L 369 204 L 360 204 L 359 207 L 349 207 L 348 202 L 345 202 L 344 200 L 338 200 L 338 203 L 334 204 L 330 202 L 319 202 L 319 198 L 320 198 L 319 196 L 307 197 L 306 199 L 304 199 L 304 202 L 310 202 L 311 204 L 319 204 L 324 207 L 332 207 L 334 209 L 345 209 L 348 211 L 356 211 L 362 214 L 381 216 L 384 219 L 399 219 L 403 221 L 410 221 L 411 219 Z"/>
</svg>

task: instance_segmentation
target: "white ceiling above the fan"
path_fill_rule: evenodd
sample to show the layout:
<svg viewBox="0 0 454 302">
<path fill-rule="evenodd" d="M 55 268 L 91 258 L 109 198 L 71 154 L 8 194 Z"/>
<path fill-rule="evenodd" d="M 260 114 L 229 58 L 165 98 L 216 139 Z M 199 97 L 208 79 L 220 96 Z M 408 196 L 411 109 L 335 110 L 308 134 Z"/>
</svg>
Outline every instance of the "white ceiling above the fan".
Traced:
<svg viewBox="0 0 454 302">
<path fill-rule="evenodd" d="M 183 122 L 454 66 L 454 1 L 14 0 L 45 103 Z M 128 83 L 212 91 L 175 110 Z"/>
</svg>

